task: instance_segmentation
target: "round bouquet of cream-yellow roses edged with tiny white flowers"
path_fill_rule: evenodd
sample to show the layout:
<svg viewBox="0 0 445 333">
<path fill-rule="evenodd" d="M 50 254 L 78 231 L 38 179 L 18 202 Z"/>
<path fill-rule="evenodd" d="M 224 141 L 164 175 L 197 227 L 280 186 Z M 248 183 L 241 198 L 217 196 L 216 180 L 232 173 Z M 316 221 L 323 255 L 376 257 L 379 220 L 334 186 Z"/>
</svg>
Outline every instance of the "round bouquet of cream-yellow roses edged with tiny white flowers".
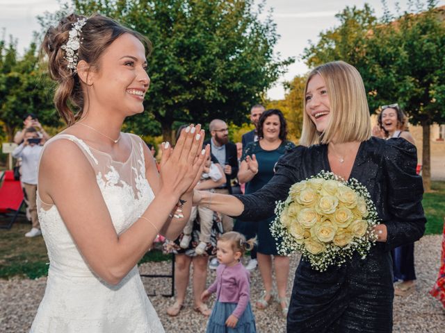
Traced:
<svg viewBox="0 0 445 333">
<path fill-rule="evenodd" d="M 340 266 L 355 251 L 364 259 L 377 239 L 378 214 L 366 187 L 332 172 L 292 185 L 275 214 L 270 230 L 278 253 L 300 252 L 317 271 Z"/>
</svg>

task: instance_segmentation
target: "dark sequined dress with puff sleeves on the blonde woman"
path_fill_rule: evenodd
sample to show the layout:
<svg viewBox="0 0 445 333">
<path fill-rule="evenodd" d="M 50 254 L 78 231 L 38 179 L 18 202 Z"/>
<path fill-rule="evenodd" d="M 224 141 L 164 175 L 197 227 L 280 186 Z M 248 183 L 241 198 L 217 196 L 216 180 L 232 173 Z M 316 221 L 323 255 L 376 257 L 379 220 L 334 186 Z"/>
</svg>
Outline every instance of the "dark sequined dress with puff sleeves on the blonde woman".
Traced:
<svg viewBox="0 0 445 333">
<path fill-rule="evenodd" d="M 391 248 L 412 243 L 425 230 L 416 175 L 416 148 L 405 139 L 371 138 L 362 142 L 350 174 L 368 189 L 387 242 L 371 248 L 366 259 L 355 255 L 341 267 L 321 273 L 300 261 L 287 317 L 287 332 L 391 332 L 394 298 Z M 320 171 L 330 171 L 327 145 L 298 146 L 275 167 L 275 176 L 261 190 L 237 196 L 244 203 L 239 219 L 254 221 L 273 214 L 275 200 L 285 200 L 289 187 Z"/>
</svg>

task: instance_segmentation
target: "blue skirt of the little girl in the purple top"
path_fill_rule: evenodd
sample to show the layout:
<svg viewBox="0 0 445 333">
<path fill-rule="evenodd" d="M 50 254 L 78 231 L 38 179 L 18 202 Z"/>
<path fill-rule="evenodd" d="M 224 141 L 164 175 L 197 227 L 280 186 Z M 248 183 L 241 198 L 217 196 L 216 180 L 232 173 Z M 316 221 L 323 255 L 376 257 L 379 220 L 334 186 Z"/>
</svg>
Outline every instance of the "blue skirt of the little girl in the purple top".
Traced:
<svg viewBox="0 0 445 333">
<path fill-rule="evenodd" d="M 233 313 L 236 308 L 236 303 L 223 303 L 219 300 L 216 301 L 211 315 L 209 323 L 207 323 L 207 333 L 256 333 L 255 317 L 250 307 L 250 302 L 241 317 L 238 319 L 238 323 L 235 328 L 230 328 L 225 325 L 227 318 Z"/>
</svg>

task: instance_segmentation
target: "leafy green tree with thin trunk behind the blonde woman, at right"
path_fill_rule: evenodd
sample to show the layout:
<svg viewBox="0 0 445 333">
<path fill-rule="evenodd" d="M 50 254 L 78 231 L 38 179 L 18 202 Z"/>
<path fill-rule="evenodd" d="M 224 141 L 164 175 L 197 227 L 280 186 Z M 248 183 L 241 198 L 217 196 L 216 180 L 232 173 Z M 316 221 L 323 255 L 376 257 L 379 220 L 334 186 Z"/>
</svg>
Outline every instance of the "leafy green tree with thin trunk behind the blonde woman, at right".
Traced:
<svg viewBox="0 0 445 333">
<path fill-rule="evenodd" d="M 423 179 L 430 189 L 430 125 L 445 122 L 445 13 L 437 1 L 377 19 L 368 6 L 346 8 L 341 24 L 305 49 L 310 66 L 344 60 L 362 75 L 371 112 L 399 103 L 423 127 Z M 411 6 L 412 8 L 413 6 Z"/>
</svg>

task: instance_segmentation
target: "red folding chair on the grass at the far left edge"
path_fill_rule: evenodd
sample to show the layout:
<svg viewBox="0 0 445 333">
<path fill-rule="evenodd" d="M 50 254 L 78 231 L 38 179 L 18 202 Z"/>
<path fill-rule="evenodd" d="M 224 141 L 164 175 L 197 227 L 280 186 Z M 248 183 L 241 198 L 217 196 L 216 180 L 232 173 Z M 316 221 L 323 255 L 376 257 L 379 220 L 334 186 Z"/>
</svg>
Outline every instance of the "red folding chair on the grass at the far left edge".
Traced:
<svg viewBox="0 0 445 333">
<path fill-rule="evenodd" d="M 10 216 L 11 219 L 8 224 L 0 225 L 0 229 L 10 229 L 25 204 L 23 189 L 20 181 L 14 179 L 14 171 L 5 171 L 2 178 L 3 185 L 0 187 L 0 214 Z"/>
</svg>

